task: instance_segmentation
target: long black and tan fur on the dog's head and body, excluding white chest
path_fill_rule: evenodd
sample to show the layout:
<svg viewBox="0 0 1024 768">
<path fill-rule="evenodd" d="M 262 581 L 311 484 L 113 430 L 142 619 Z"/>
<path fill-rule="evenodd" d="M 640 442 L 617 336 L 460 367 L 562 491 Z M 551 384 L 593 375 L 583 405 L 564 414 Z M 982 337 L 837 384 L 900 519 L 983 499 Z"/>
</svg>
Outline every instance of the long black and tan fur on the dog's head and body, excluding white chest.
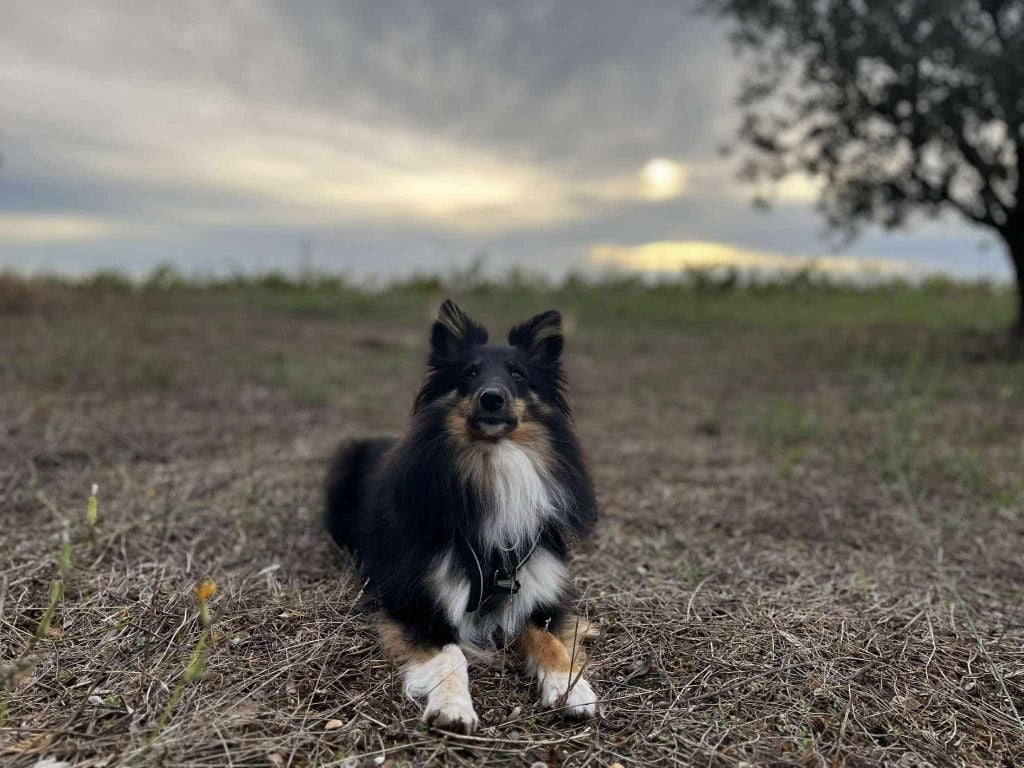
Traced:
<svg viewBox="0 0 1024 768">
<path fill-rule="evenodd" d="M 528 438 L 523 444 L 531 446 L 534 463 L 559 500 L 557 510 L 530 536 L 562 562 L 569 544 L 596 519 L 594 492 L 565 395 L 559 314 L 545 312 L 516 326 L 509 344 L 488 345 L 483 327 L 444 302 L 433 325 L 427 376 L 408 431 L 398 439 L 344 446 L 328 477 L 331 536 L 356 553 L 384 614 L 419 645 L 467 640 L 460 637 L 429 578 L 443 553 L 453 552 L 458 569 L 471 581 L 480 570 L 474 557 L 484 568 L 508 557 L 487 541 L 487 488 L 475 483 L 467 469 L 467 452 L 483 445 L 477 441 Z M 493 398 L 503 396 L 504 404 L 481 410 L 487 392 L 498 392 Z M 527 554 L 529 544 L 515 543 L 518 556 Z M 566 592 L 535 605 L 525 621 L 554 631 L 568 609 Z M 503 629 L 514 634 L 517 628 Z"/>
</svg>

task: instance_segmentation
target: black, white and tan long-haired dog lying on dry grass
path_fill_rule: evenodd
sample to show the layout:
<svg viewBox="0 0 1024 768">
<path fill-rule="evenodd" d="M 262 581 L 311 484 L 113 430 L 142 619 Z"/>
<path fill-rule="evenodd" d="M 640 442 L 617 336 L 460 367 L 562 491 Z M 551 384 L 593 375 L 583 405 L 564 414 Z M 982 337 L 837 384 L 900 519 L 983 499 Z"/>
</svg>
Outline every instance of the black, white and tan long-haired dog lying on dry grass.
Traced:
<svg viewBox="0 0 1024 768">
<path fill-rule="evenodd" d="M 597 519 L 561 366 L 561 315 L 508 346 L 453 301 L 430 334 L 427 374 L 398 439 L 343 446 L 327 480 L 327 527 L 352 551 L 380 609 L 385 652 L 423 720 L 479 724 L 465 650 L 511 644 L 541 702 L 597 713 L 583 676 L 592 626 L 571 611 L 569 546 Z"/>
</svg>

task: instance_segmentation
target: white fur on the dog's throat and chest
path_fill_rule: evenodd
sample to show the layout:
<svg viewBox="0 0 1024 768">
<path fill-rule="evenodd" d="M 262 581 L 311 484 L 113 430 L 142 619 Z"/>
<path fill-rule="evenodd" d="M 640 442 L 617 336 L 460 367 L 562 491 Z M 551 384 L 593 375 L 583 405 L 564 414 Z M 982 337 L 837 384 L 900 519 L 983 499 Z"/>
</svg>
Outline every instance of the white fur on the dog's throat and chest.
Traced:
<svg viewBox="0 0 1024 768">
<path fill-rule="evenodd" d="M 536 542 L 545 521 L 561 507 L 560 488 L 526 451 L 509 440 L 481 445 L 467 462 L 466 469 L 485 505 L 481 527 L 484 547 L 518 547 L 521 551 Z M 536 607 L 560 599 L 567 579 L 561 559 L 538 547 L 519 568 L 516 594 L 502 597 L 490 608 L 468 612 L 470 583 L 457 562 L 455 551 L 445 551 L 435 562 L 431 586 L 460 641 L 474 644 L 487 644 L 499 628 L 518 633 Z M 481 571 L 474 575 L 487 579 L 492 574 Z"/>
</svg>

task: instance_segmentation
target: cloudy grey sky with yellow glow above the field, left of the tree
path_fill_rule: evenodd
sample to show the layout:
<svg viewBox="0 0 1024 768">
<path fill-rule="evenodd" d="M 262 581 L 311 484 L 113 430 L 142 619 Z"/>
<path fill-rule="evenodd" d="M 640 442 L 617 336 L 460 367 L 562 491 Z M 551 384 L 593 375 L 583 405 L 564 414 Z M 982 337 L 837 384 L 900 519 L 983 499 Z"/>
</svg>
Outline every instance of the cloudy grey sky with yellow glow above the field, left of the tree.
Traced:
<svg viewBox="0 0 1024 768">
<path fill-rule="evenodd" d="M 727 29 L 684 1 L 0 0 L 0 269 L 734 264 L 1009 275 L 954 218 L 752 206 Z"/>
</svg>

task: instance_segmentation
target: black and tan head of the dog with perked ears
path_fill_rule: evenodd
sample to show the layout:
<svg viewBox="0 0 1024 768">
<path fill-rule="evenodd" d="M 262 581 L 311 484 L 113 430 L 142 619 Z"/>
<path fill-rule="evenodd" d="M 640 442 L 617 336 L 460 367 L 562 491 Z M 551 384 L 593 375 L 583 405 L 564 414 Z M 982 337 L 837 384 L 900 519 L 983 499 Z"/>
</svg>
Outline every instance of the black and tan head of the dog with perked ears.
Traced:
<svg viewBox="0 0 1024 768">
<path fill-rule="evenodd" d="M 569 417 L 562 375 L 561 315 L 549 310 L 509 332 L 509 346 L 454 301 L 441 304 L 430 334 L 427 378 L 414 413 L 443 401 L 469 439 L 500 440 L 544 415 Z"/>
</svg>

